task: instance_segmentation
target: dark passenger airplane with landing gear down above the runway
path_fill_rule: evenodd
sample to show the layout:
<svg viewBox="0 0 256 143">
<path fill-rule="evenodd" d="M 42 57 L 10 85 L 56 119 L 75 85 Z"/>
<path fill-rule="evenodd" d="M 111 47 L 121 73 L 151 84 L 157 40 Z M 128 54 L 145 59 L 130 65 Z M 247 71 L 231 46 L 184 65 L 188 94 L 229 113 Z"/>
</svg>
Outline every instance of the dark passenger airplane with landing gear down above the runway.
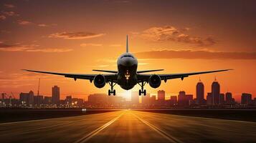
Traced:
<svg viewBox="0 0 256 143">
<path fill-rule="evenodd" d="M 161 81 L 167 82 L 168 79 L 184 79 L 184 77 L 189 77 L 191 75 L 196 74 L 207 74 L 212 72 L 219 71 L 229 71 L 232 69 L 222 69 L 215 71 L 200 71 L 200 72 L 190 72 L 190 73 L 181 73 L 181 74 L 143 74 L 146 72 L 152 71 L 163 71 L 163 69 L 153 69 L 153 70 L 143 70 L 138 71 L 138 60 L 136 57 L 129 52 L 128 48 L 128 35 L 126 36 L 126 52 L 121 54 L 118 57 L 117 61 L 118 70 L 110 71 L 110 70 L 100 70 L 93 69 L 93 71 L 101 71 L 109 74 L 69 74 L 69 73 L 59 73 L 59 72 L 49 72 L 49 71 L 34 71 L 29 69 L 22 69 L 24 71 L 32 71 L 43 74 L 56 74 L 68 78 L 75 79 L 87 79 L 90 80 L 90 83 L 93 82 L 95 87 L 103 88 L 105 84 L 110 85 L 110 89 L 108 90 L 108 95 L 113 94 L 115 96 L 115 87 L 118 84 L 122 89 L 129 90 L 132 89 L 136 84 L 141 86 L 138 94 L 141 96 L 143 94 L 146 95 L 146 89 L 144 86 L 146 83 L 150 85 L 152 88 L 158 88 L 161 85 Z"/>
</svg>

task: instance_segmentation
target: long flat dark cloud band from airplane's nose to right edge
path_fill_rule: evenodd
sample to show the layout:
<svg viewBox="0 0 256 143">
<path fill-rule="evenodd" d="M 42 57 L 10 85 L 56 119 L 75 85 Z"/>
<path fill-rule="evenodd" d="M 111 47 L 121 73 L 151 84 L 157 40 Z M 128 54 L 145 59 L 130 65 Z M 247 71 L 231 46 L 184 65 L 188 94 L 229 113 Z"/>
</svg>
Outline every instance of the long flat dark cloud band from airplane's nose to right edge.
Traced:
<svg viewBox="0 0 256 143">
<path fill-rule="evenodd" d="M 256 59 L 256 52 L 163 50 L 143 51 L 135 55 L 141 59 Z"/>
</svg>

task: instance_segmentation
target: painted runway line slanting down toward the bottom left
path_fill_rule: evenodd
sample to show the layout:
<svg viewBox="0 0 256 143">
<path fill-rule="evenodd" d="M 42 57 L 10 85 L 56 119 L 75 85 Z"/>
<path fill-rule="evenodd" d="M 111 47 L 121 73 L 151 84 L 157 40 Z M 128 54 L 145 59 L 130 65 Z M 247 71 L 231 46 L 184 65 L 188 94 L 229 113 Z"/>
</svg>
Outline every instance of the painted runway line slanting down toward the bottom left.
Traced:
<svg viewBox="0 0 256 143">
<path fill-rule="evenodd" d="M 82 137 L 81 139 L 78 139 L 76 142 L 74 143 L 80 143 L 80 142 L 87 142 L 89 139 L 91 139 L 92 137 L 94 137 L 96 134 L 98 134 L 100 131 L 102 131 L 103 129 L 105 129 L 106 127 L 108 127 L 110 124 L 112 124 L 113 122 L 115 122 L 117 119 L 119 119 L 121 116 L 123 116 L 123 114 L 125 114 L 124 112 L 122 114 L 120 114 L 118 117 L 115 117 L 114 119 L 110 120 L 110 122 L 107 122 L 106 124 L 103 124 L 103 126 L 98 127 L 97 129 L 93 130 L 93 132 L 90 132 L 89 134 L 87 134 L 85 137 Z"/>
</svg>

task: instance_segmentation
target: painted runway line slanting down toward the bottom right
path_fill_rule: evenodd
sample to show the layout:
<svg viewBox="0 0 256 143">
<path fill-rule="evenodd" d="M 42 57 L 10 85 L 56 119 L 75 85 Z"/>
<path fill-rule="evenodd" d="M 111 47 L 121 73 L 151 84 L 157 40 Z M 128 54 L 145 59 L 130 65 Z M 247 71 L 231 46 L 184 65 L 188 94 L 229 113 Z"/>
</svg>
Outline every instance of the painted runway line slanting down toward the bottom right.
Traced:
<svg viewBox="0 0 256 143">
<path fill-rule="evenodd" d="M 133 114 L 133 113 L 131 113 L 131 114 Z M 168 139 L 169 142 L 179 142 L 179 143 L 182 143 L 181 140 L 176 139 L 176 137 L 172 137 L 170 134 L 164 132 L 162 129 L 159 129 L 158 127 L 154 126 L 153 124 L 150 124 L 149 122 L 146 122 L 144 119 L 141 119 L 141 117 L 138 117 L 136 114 L 133 114 L 133 116 L 136 117 L 141 122 L 143 122 L 144 124 L 148 125 L 148 127 L 151 127 L 151 129 L 156 131 L 162 137 Z"/>
</svg>

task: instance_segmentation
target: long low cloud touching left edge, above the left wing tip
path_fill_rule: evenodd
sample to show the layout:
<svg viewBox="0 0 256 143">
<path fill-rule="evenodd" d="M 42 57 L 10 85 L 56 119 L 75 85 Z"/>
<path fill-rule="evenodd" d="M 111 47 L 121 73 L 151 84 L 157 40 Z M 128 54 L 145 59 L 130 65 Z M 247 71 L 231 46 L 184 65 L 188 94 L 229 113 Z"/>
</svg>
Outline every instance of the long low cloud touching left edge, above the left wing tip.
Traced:
<svg viewBox="0 0 256 143">
<path fill-rule="evenodd" d="M 4 44 L 0 42 L 0 51 L 28 51 L 28 52 L 47 52 L 47 53 L 60 53 L 72 51 L 70 48 L 39 48 L 37 44 Z"/>
</svg>

